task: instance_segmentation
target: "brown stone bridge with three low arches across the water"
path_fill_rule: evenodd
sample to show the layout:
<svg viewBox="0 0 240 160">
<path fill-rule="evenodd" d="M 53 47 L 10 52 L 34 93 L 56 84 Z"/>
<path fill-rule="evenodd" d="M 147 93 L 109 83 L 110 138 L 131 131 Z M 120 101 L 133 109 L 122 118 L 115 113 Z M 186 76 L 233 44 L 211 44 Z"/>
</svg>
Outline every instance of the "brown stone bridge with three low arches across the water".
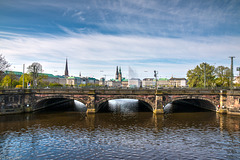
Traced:
<svg viewBox="0 0 240 160">
<path fill-rule="evenodd" d="M 96 113 L 101 104 L 113 99 L 137 99 L 151 106 L 154 113 L 163 113 L 163 106 L 178 100 L 199 100 L 216 107 L 240 109 L 239 90 L 197 89 L 24 89 L 1 90 L 1 112 L 31 112 L 42 109 L 49 100 L 77 100 L 87 107 L 87 113 Z M 12 109 L 12 110 L 11 110 Z M 218 109 L 218 108 L 217 108 Z"/>
</svg>

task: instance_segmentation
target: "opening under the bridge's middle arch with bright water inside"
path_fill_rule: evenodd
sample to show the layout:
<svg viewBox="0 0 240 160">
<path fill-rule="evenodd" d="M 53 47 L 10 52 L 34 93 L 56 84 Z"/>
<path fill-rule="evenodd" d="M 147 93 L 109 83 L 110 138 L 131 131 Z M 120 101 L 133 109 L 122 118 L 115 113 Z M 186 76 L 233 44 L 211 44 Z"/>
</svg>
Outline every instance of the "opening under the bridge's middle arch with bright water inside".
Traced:
<svg viewBox="0 0 240 160">
<path fill-rule="evenodd" d="M 149 104 L 143 103 L 136 99 L 114 99 L 104 102 L 99 107 L 100 113 L 134 113 L 134 112 L 151 112 Z"/>
</svg>

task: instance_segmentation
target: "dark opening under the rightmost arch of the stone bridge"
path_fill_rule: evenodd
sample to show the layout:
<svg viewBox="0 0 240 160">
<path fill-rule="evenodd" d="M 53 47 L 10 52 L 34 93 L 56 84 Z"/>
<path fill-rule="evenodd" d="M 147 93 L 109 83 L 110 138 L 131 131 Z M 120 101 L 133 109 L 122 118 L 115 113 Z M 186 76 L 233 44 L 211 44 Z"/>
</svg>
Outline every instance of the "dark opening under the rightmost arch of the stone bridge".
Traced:
<svg viewBox="0 0 240 160">
<path fill-rule="evenodd" d="M 164 113 L 215 112 L 216 106 L 206 99 L 176 99 L 163 108 Z"/>
</svg>

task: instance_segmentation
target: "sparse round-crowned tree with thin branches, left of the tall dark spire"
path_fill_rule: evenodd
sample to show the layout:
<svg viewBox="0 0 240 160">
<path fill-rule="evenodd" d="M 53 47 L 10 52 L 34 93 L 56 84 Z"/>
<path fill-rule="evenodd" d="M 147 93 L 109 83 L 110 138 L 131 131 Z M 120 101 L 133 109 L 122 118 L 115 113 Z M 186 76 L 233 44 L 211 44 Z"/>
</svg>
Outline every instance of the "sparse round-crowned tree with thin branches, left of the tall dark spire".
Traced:
<svg viewBox="0 0 240 160">
<path fill-rule="evenodd" d="M 39 80 L 39 74 L 42 73 L 42 65 L 38 62 L 34 62 L 30 66 L 28 66 L 27 69 L 32 77 L 32 84 L 34 87 L 36 87 Z"/>
</svg>

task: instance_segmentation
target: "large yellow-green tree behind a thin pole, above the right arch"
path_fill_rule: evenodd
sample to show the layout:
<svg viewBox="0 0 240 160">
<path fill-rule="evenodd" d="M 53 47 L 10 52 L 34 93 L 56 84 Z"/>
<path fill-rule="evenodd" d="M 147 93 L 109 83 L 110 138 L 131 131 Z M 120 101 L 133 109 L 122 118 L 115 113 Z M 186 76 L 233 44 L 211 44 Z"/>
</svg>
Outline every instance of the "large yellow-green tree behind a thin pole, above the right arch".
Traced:
<svg viewBox="0 0 240 160">
<path fill-rule="evenodd" d="M 206 63 L 206 87 L 215 86 L 215 67 Z M 189 87 L 204 87 L 204 63 L 187 72 Z"/>
</svg>

